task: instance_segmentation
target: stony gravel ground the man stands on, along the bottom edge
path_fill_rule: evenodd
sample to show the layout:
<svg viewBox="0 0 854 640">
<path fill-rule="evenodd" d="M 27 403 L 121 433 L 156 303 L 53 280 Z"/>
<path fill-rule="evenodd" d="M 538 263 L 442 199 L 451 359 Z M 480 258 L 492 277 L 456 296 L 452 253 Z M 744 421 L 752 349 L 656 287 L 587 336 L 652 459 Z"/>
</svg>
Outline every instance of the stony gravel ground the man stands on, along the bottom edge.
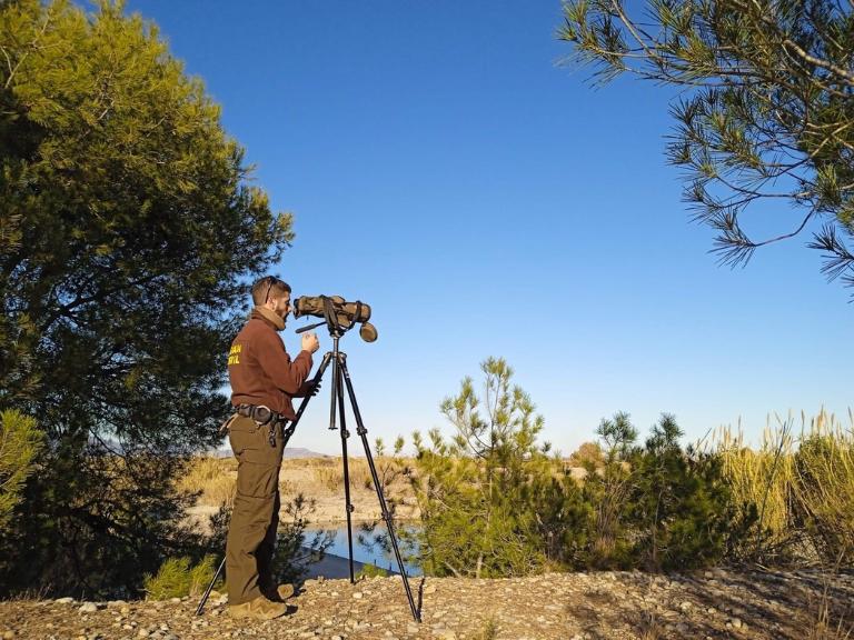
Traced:
<svg viewBox="0 0 854 640">
<path fill-rule="evenodd" d="M 547 573 L 506 580 L 410 579 L 423 622 L 413 621 L 399 577 L 309 580 L 288 616 L 237 622 L 215 594 L 169 602 L 0 602 L 0 638 L 141 639 L 326 638 L 566 639 L 847 638 L 854 623 L 854 576 L 811 571 L 689 576 L 638 572 Z M 847 608 L 847 611 L 846 611 Z M 833 629 L 821 630 L 832 611 Z M 840 633 L 838 616 L 847 626 Z M 851 633 L 854 638 L 854 632 Z"/>
</svg>

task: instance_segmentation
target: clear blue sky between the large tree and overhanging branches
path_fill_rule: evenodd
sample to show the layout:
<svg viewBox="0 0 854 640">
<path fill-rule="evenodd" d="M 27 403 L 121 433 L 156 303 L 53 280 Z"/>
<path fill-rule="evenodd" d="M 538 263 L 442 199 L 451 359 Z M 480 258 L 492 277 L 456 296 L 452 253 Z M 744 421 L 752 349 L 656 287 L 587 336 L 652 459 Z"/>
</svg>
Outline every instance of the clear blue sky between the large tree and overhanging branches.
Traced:
<svg viewBox="0 0 854 640">
<path fill-rule="evenodd" d="M 628 77 L 594 89 L 562 64 L 559 1 L 127 8 L 203 80 L 256 182 L 295 214 L 276 269 L 295 296 L 373 307 L 379 340 L 342 340 L 371 439 L 450 433 L 439 403 L 489 356 L 564 453 L 620 410 L 642 433 L 675 413 L 686 440 L 741 417 L 755 441 L 769 412 L 854 404 L 851 291 L 826 283 L 807 237 L 718 267 L 665 163 L 675 93 Z M 753 228 L 795 220 L 763 210 Z M 304 323 L 284 333 L 291 351 Z M 292 446 L 340 451 L 328 387 Z"/>
</svg>

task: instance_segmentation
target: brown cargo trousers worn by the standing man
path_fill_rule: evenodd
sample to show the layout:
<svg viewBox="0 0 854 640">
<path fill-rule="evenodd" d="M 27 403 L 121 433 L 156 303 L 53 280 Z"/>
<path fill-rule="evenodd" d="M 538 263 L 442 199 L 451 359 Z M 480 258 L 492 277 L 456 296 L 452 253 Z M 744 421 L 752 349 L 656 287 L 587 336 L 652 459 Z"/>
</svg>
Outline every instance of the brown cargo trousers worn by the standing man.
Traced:
<svg viewBox="0 0 854 640">
<path fill-rule="evenodd" d="M 270 446 L 270 426 L 258 427 L 238 416 L 229 427 L 237 458 L 237 492 L 226 540 L 228 603 L 242 604 L 272 588 L 272 554 L 279 524 L 279 469 L 282 438 L 277 427 Z"/>
</svg>

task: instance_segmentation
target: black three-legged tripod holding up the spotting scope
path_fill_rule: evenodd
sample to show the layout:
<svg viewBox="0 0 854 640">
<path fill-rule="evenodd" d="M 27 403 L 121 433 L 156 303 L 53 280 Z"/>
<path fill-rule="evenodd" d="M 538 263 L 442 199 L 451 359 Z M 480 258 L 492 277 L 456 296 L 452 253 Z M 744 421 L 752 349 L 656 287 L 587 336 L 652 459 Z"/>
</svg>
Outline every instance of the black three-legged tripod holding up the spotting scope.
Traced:
<svg viewBox="0 0 854 640">
<path fill-rule="evenodd" d="M 368 468 L 370 469 L 370 477 L 374 482 L 374 489 L 377 492 L 377 500 L 379 501 L 379 508 L 383 516 L 383 520 L 386 522 L 386 528 L 388 529 L 388 538 L 391 541 L 391 548 L 395 552 L 395 559 L 397 560 L 397 567 L 400 570 L 400 576 L 404 579 L 404 590 L 406 591 L 406 598 L 409 601 L 409 610 L 413 613 L 413 618 L 416 622 L 420 622 L 420 613 L 418 609 L 415 606 L 415 600 L 413 598 L 413 590 L 409 587 L 409 578 L 406 573 L 406 568 L 404 567 L 404 561 L 400 556 L 400 548 L 397 543 L 397 537 L 395 536 L 395 528 L 393 523 L 391 512 L 388 510 L 388 506 L 386 503 L 386 498 L 383 493 L 383 486 L 379 482 L 379 476 L 377 474 L 377 468 L 374 463 L 374 456 L 370 452 L 370 446 L 368 443 L 368 430 L 365 428 L 365 423 L 361 419 L 361 413 L 359 412 L 359 404 L 356 401 L 356 392 L 352 389 L 352 381 L 350 380 L 350 372 L 347 369 L 347 353 L 342 352 L 338 348 L 338 341 L 340 340 L 341 336 L 344 336 L 345 332 L 347 332 L 352 326 L 355 326 L 355 322 L 350 323 L 349 327 L 341 327 L 341 324 L 336 320 L 335 316 L 329 312 L 327 309 L 327 312 L 325 313 L 326 320 L 324 322 L 318 322 L 317 324 L 311 324 L 308 327 L 302 327 L 297 330 L 298 333 L 301 333 L 302 331 L 307 331 L 309 329 L 314 329 L 315 327 L 319 327 L 320 324 L 327 324 L 329 328 L 329 336 L 332 338 L 332 350 L 328 351 L 326 354 L 324 354 L 324 359 L 320 362 L 320 367 L 317 370 L 317 373 L 311 379 L 311 389 L 316 389 L 317 384 L 320 383 L 320 380 L 324 377 L 324 373 L 326 373 L 326 370 L 329 368 L 329 364 L 332 366 L 332 388 L 330 393 L 330 400 L 329 400 L 329 429 L 336 430 L 338 427 L 336 426 L 336 417 L 338 420 L 340 420 L 340 429 L 339 432 L 341 434 L 341 460 L 344 464 L 344 499 L 345 499 L 345 509 L 347 512 L 347 547 L 349 551 L 349 572 L 350 572 L 350 583 L 356 582 L 356 578 L 354 576 L 354 566 L 352 566 L 352 519 L 351 513 L 354 511 L 354 506 L 350 502 L 350 472 L 349 472 L 349 463 L 347 458 L 347 439 L 350 437 L 350 432 L 347 430 L 347 422 L 345 417 L 345 402 L 344 402 L 344 390 L 347 389 L 347 397 L 350 401 L 350 408 L 352 410 L 354 418 L 356 419 L 356 433 L 359 436 L 361 440 L 361 446 L 365 450 L 365 458 L 368 461 Z M 284 446 L 282 448 L 288 446 L 288 440 L 290 440 L 290 437 L 294 436 L 294 432 L 297 429 L 297 424 L 299 423 L 300 418 L 302 418 L 302 413 L 306 410 L 306 407 L 308 407 L 308 402 L 311 400 L 314 393 L 309 391 L 308 394 L 306 394 L 305 398 L 302 398 L 302 401 L 299 404 L 299 409 L 297 410 L 297 414 L 294 418 L 292 422 L 287 426 L 287 428 L 282 429 L 282 437 L 284 437 Z M 216 574 L 214 576 L 214 580 L 211 580 L 210 584 L 208 586 L 207 591 L 205 592 L 205 596 L 201 599 L 201 602 L 199 602 L 199 607 L 196 610 L 196 614 L 200 614 L 202 608 L 205 607 L 205 602 L 207 601 L 208 597 L 210 596 L 211 590 L 214 589 L 214 584 L 217 581 L 217 578 L 219 578 L 219 574 L 222 571 L 222 568 L 225 567 L 226 559 L 222 559 L 222 562 L 219 566 L 219 569 L 217 569 Z"/>
</svg>

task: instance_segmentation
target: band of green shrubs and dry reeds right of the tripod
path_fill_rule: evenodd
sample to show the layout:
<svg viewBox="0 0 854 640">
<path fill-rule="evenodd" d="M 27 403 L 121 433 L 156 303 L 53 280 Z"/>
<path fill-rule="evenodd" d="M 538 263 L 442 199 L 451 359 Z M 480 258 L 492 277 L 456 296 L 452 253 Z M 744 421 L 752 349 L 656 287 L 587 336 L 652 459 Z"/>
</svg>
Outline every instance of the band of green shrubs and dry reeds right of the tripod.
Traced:
<svg viewBox="0 0 854 640">
<path fill-rule="evenodd" d="M 415 437 L 409 473 L 419 549 L 436 574 L 549 569 L 694 569 L 718 563 L 850 567 L 854 554 L 854 418 L 824 412 L 765 430 L 757 449 L 721 429 L 684 446 L 662 414 L 640 442 L 627 413 L 570 461 L 538 444 L 542 419 L 502 360 L 443 404 L 456 434 Z"/>
</svg>

